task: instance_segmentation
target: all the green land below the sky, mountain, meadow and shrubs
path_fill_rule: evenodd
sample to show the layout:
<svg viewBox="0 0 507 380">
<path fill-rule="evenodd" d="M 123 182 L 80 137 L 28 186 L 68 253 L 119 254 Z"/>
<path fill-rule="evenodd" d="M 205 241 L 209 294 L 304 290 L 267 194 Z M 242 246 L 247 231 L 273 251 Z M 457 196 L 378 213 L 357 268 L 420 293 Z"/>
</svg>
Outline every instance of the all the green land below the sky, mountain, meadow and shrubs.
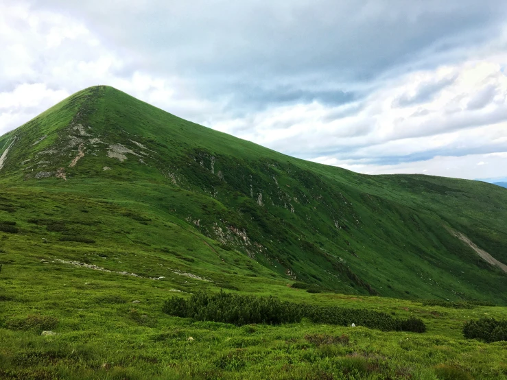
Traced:
<svg viewBox="0 0 507 380">
<path fill-rule="evenodd" d="M 109 86 L 0 137 L 1 379 L 507 379 L 507 189 Z"/>
</svg>

